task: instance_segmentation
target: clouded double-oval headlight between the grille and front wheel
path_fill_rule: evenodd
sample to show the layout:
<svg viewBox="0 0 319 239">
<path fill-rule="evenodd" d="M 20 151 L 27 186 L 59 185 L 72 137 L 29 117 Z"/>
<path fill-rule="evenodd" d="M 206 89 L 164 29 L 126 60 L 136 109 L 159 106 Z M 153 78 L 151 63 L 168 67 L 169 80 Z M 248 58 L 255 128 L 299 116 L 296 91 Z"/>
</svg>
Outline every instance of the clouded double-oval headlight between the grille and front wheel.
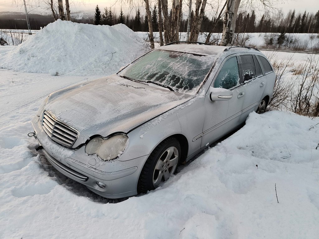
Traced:
<svg viewBox="0 0 319 239">
<path fill-rule="evenodd" d="M 109 138 L 96 137 L 85 146 L 85 153 L 96 154 L 104 161 L 119 157 L 128 144 L 129 138 L 125 134 L 116 134 Z"/>
</svg>

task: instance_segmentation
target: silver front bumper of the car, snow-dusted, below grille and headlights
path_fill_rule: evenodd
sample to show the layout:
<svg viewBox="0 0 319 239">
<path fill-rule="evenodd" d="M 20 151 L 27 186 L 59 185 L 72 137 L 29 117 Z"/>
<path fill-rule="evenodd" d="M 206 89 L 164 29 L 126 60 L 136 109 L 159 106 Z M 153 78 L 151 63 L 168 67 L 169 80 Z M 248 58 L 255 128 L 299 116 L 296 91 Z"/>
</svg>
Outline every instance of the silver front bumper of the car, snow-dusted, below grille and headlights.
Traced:
<svg viewBox="0 0 319 239">
<path fill-rule="evenodd" d="M 128 161 L 115 159 L 105 162 L 97 156 L 86 155 L 85 147 L 73 150 L 52 141 L 41 127 L 39 117 L 33 118 L 32 125 L 45 157 L 65 176 L 102 197 L 113 199 L 137 194 L 137 181 L 148 155 Z M 97 182 L 106 187 L 99 187 Z"/>
</svg>

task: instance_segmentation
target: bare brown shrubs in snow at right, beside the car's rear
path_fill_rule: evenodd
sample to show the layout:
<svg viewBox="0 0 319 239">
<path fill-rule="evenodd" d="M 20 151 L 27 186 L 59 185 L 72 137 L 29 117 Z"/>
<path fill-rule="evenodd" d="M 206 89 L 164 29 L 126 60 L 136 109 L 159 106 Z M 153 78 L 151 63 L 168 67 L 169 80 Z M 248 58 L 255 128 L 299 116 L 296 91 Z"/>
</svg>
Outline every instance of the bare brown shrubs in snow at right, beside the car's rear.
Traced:
<svg viewBox="0 0 319 239">
<path fill-rule="evenodd" d="M 293 76 L 287 74 L 292 58 L 278 61 L 268 56 L 276 72 L 274 93 L 270 110 L 291 110 L 300 115 L 319 116 L 319 60 L 309 54 L 305 63 L 294 68 Z"/>
</svg>

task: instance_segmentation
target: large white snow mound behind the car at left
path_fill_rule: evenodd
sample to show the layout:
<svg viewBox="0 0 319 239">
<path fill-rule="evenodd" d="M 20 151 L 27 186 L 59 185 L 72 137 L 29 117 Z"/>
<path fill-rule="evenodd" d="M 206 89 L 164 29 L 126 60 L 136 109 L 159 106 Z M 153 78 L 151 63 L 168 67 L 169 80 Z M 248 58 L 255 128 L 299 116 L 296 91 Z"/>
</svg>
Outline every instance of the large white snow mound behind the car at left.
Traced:
<svg viewBox="0 0 319 239">
<path fill-rule="evenodd" d="M 110 75 L 142 54 L 142 40 L 119 26 L 58 20 L 0 52 L 0 68 L 50 75 Z"/>
</svg>

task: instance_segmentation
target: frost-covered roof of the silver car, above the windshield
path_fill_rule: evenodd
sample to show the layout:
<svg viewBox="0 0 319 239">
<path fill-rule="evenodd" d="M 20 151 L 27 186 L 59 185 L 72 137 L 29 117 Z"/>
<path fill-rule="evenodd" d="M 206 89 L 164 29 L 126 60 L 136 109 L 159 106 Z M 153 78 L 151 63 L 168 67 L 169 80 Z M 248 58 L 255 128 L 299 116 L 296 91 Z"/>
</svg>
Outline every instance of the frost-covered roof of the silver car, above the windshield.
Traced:
<svg viewBox="0 0 319 239">
<path fill-rule="evenodd" d="M 211 45 L 196 45 L 196 44 L 172 44 L 156 48 L 157 50 L 167 50 L 167 51 L 178 51 L 191 54 L 200 54 L 200 55 L 217 55 L 222 52 L 227 52 L 228 54 L 233 53 L 256 53 L 258 50 L 254 48 L 241 47 L 241 46 L 232 46 L 232 47 L 223 47 L 223 46 L 211 46 Z M 227 54 L 227 55 L 228 55 Z"/>
</svg>

